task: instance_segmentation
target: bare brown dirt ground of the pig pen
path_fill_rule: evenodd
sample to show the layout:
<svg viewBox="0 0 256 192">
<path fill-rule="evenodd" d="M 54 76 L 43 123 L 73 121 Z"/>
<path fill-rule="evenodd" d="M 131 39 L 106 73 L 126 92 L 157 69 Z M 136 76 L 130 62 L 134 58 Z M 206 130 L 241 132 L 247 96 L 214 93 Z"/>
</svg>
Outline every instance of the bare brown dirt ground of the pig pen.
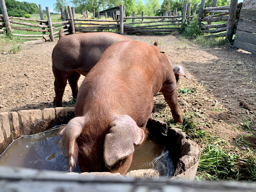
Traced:
<svg viewBox="0 0 256 192">
<path fill-rule="evenodd" d="M 194 92 L 178 93 L 178 99 L 183 112 L 199 114 L 196 115 L 199 128 L 224 137 L 231 145 L 245 134 L 239 127 L 243 120 L 255 118 L 256 113 L 255 55 L 230 45 L 203 48 L 178 35 L 126 36 L 149 44 L 157 40 L 165 54 L 193 75 L 193 79 L 181 77 L 177 89 L 186 87 Z M 56 41 L 24 45 L 18 53 L 0 54 L 0 112 L 53 107 L 51 52 L 55 44 Z M 71 106 L 71 98 L 67 85 L 63 106 Z M 248 105 L 247 109 L 239 105 L 240 101 Z M 152 116 L 161 116 L 166 110 L 169 109 L 158 94 Z M 256 146 L 255 135 L 246 139 Z M 242 145 L 240 148 L 245 149 Z"/>
</svg>

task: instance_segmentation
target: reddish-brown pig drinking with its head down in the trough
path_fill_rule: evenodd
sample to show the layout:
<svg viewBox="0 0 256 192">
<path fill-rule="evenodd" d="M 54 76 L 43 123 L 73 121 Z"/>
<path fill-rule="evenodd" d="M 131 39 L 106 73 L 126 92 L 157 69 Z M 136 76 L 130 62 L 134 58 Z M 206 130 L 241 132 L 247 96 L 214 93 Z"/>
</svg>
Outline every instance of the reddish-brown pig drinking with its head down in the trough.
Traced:
<svg viewBox="0 0 256 192">
<path fill-rule="evenodd" d="M 60 147 L 68 157 L 69 171 L 78 159 L 82 172 L 125 174 L 133 144 L 141 144 L 145 138 L 158 91 L 174 121 L 182 123 L 176 79 L 165 54 L 140 41 L 121 41 L 107 48 L 79 88 L 76 117 L 60 131 Z"/>
</svg>

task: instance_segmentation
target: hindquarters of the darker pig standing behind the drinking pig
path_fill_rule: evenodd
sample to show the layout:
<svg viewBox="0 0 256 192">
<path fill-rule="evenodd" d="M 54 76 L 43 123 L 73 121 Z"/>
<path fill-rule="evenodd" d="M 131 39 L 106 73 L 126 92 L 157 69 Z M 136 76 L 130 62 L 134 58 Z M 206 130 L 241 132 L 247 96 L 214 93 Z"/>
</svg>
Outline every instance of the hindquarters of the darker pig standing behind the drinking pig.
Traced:
<svg viewBox="0 0 256 192">
<path fill-rule="evenodd" d="M 86 75 L 97 63 L 107 47 L 121 40 L 131 40 L 112 32 L 88 32 L 64 35 L 59 31 L 59 40 L 52 51 L 55 98 L 53 106 L 62 106 L 66 80 L 76 99 L 80 74 Z"/>
</svg>

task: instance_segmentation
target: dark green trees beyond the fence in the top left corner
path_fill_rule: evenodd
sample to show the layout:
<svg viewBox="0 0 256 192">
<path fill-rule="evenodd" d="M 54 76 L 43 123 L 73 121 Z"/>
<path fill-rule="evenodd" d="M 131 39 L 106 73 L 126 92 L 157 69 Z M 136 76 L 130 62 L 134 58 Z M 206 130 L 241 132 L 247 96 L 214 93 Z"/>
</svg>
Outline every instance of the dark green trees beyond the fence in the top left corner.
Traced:
<svg viewBox="0 0 256 192">
<path fill-rule="evenodd" d="M 5 5 L 9 16 L 24 16 L 27 13 L 39 13 L 39 8 L 35 3 L 5 0 Z M 0 14 L 1 13 L 0 8 Z"/>
</svg>

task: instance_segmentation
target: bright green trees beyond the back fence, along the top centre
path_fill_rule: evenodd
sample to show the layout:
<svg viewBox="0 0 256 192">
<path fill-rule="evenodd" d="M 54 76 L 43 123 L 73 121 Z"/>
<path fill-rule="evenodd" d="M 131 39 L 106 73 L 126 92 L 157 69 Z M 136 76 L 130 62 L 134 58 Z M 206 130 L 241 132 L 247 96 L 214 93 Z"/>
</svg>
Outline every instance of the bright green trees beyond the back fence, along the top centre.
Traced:
<svg viewBox="0 0 256 192">
<path fill-rule="evenodd" d="M 160 5 L 159 0 L 146 0 L 143 3 L 142 0 L 70 0 L 70 2 L 75 7 L 75 12 L 80 12 L 81 9 L 93 11 L 101 11 L 107 8 L 112 8 L 119 6 L 120 4 L 125 5 L 125 13 L 127 16 L 130 16 L 133 11 L 136 15 L 140 15 L 143 11 L 147 16 L 159 15 L 165 11 L 174 11 L 174 8 L 177 7 L 178 11 L 182 11 L 184 3 L 191 3 L 191 6 L 194 4 L 200 4 L 201 0 L 163 0 Z M 228 5 L 230 0 L 218 0 L 217 6 Z M 207 0 L 205 7 L 211 6 L 212 0 Z M 66 7 L 66 0 L 56 0 L 54 5 L 54 10 L 59 12 L 60 7 Z"/>
</svg>

